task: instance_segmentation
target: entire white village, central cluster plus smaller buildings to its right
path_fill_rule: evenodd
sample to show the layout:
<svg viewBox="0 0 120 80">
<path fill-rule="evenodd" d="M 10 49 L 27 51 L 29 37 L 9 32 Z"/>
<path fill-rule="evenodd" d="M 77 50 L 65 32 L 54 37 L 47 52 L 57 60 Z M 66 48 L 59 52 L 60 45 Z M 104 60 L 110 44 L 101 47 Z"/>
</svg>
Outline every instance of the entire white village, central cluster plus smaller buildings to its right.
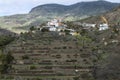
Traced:
<svg viewBox="0 0 120 80">
<path fill-rule="evenodd" d="M 107 19 L 105 17 L 101 17 L 103 22 L 101 24 L 93 24 L 93 23 L 81 23 L 81 22 L 75 22 L 75 24 L 82 26 L 83 29 L 86 30 L 95 30 L 98 31 L 107 30 L 109 29 L 109 25 L 107 22 Z M 40 31 L 42 30 L 48 30 L 50 32 L 58 32 L 59 35 L 65 35 L 69 34 L 72 36 L 80 35 L 78 31 L 75 29 L 69 28 L 66 24 L 63 23 L 63 20 L 61 18 L 55 18 L 51 21 L 49 21 L 45 26 L 40 27 Z"/>
</svg>

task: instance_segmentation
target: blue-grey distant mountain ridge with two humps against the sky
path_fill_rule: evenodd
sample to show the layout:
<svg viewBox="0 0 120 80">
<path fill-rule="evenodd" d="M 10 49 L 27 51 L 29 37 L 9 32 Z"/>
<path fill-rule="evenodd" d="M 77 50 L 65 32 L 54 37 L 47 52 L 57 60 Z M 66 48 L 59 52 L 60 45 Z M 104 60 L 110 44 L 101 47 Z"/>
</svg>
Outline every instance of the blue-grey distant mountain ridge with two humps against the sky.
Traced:
<svg viewBox="0 0 120 80">
<path fill-rule="evenodd" d="M 111 3 L 107 1 L 80 2 L 69 6 L 59 4 L 46 4 L 33 8 L 30 13 L 58 16 L 65 14 L 74 16 L 96 15 L 110 11 L 118 5 L 118 3 Z"/>
</svg>

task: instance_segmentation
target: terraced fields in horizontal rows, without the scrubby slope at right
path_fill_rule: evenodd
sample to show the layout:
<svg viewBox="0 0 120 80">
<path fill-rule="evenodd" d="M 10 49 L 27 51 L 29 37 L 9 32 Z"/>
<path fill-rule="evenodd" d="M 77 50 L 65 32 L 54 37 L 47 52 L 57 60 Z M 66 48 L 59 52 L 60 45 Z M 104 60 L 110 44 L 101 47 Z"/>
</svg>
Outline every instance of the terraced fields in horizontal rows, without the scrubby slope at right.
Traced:
<svg viewBox="0 0 120 80">
<path fill-rule="evenodd" d="M 86 50 L 83 47 L 71 35 L 39 31 L 23 34 L 5 50 L 15 58 L 8 75 L 20 80 L 92 79 L 92 52 L 90 45 L 84 47 Z"/>
</svg>

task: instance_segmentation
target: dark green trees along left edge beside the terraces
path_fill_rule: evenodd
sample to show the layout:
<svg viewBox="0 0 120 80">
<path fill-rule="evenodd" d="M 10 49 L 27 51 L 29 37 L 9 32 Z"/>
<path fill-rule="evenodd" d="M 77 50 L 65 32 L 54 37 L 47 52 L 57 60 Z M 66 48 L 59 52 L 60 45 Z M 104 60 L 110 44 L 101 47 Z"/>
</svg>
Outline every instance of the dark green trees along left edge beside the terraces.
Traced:
<svg viewBox="0 0 120 80">
<path fill-rule="evenodd" d="M 14 57 L 11 53 L 3 53 L 4 47 L 14 41 L 14 37 L 2 35 L 0 36 L 0 73 L 8 73 L 11 69 L 11 64 L 14 60 Z"/>
</svg>

